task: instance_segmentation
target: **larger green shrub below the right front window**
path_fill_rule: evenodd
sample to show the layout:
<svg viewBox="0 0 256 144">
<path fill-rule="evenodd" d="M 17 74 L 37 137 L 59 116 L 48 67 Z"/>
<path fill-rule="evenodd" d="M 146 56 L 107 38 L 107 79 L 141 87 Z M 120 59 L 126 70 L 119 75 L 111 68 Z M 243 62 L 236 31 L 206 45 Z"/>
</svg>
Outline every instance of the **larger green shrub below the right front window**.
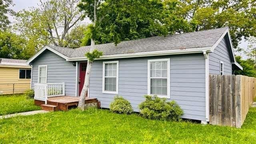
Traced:
<svg viewBox="0 0 256 144">
<path fill-rule="evenodd" d="M 180 121 L 183 111 L 176 102 L 166 102 L 166 98 L 145 96 L 146 100 L 139 104 L 140 114 L 144 118 L 156 120 Z"/>
</svg>

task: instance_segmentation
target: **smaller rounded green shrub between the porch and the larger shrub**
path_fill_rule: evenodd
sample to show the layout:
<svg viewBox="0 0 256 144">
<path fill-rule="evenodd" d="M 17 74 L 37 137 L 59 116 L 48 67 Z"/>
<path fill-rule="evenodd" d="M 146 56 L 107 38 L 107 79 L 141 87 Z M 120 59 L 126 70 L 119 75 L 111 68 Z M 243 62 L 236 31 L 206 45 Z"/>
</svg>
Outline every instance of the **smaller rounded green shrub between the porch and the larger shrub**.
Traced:
<svg viewBox="0 0 256 144">
<path fill-rule="evenodd" d="M 110 104 L 110 111 L 118 114 L 131 114 L 133 112 L 130 102 L 122 96 L 115 96 L 114 102 Z"/>
</svg>

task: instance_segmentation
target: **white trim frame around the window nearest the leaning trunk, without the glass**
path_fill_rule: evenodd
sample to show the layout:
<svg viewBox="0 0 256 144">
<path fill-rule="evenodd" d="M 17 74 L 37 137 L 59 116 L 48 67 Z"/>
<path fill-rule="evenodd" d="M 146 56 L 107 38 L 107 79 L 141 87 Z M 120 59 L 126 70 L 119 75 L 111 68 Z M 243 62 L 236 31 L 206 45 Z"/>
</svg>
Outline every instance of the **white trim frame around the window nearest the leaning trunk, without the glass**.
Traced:
<svg viewBox="0 0 256 144">
<path fill-rule="evenodd" d="M 116 92 L 106 91 L 105 90 L 105 64 L 116 63 Z M 105 94 L 118 94 L 118 61 L 106 61 L 103 62 L 103 70 L 102 70 L 102 93 Z"/>
</svg>

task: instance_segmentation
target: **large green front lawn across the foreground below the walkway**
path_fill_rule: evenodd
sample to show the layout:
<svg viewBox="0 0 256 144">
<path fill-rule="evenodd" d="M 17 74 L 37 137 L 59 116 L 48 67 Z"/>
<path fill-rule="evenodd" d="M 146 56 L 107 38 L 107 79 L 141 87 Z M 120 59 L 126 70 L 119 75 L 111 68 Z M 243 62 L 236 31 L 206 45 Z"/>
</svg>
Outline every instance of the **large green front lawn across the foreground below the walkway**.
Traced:
<svg viewBox="0 0 256 144">
<path fill-rule="evenodd" d="M 242 143 L 256 142 L 256 108 L 241 129 L 148 120 L 138 114 L 77 109 L 0 120 L 0 143 Z"/>
</svg>

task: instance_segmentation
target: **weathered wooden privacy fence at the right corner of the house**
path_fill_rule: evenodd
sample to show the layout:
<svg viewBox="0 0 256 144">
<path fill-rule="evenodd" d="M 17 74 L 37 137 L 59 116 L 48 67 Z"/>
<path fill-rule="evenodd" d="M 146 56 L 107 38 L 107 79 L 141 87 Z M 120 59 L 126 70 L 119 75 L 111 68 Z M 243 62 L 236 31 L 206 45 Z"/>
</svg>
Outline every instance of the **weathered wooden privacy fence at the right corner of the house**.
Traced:
<svg viewBox="0 0 256 144">
<path fill-rule="evenodd" d="M 210 124 L 241 128 L 256 96 L 256 78 L 210 75 Z"/>
</svg>

